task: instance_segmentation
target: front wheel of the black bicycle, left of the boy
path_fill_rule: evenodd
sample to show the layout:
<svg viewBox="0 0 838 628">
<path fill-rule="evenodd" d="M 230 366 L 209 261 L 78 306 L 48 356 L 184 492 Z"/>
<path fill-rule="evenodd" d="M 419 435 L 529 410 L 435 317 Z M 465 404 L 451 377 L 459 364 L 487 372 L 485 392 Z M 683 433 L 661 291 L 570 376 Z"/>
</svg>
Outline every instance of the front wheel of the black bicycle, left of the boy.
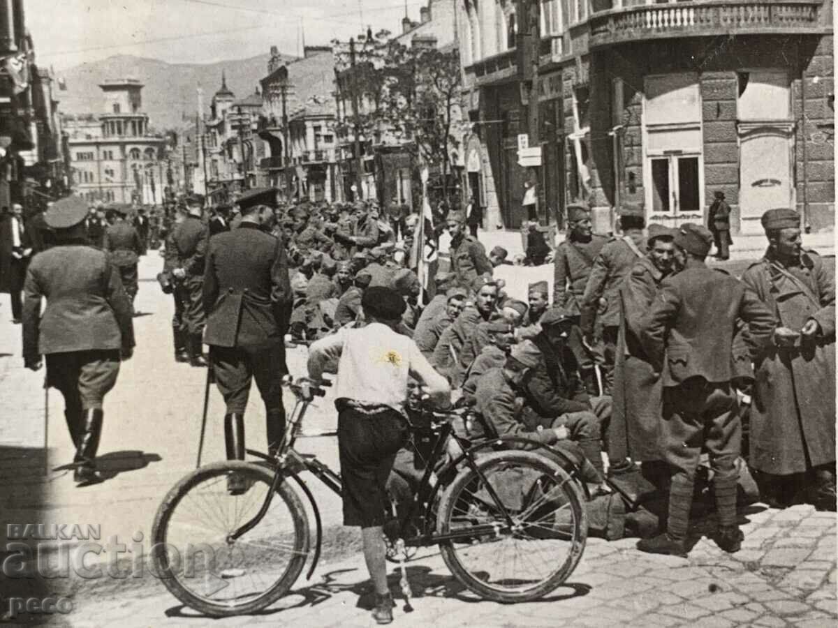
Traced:
<svg viewBox="0 0 838 628">
<path fill-rule="evenodd" d="M 230 477 L 240 479 L 230 490 Z M 271 491 L 273 470 L 243 461 L 202 466 L 175 485 L 158 508 L 152 557 L 166 588 L 204 615 L 228 617 L 264 609 L 285 595 L 303 570 L 308 516 L 283 481 L 249 532 Z M 238 494 L 237 494 L 238 493 Z"/>
</svg>

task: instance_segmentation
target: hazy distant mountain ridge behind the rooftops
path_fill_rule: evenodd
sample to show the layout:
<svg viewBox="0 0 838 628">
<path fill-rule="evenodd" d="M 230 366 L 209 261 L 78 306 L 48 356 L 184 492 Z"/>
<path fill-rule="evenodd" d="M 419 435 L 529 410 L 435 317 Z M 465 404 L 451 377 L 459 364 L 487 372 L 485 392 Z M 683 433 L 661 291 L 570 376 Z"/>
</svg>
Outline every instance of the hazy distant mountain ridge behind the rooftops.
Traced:
<svg viewBox="0 0 838 628">
<path fill-rule="evenodd" d="M 56 90 L 59 110 L 63 113 L 101 113 L 104 98 L 99 84 L 109 79 L 134 78 L 141 80 L 142 109 L 158 131 L 180 128 L 194 123 L 198 108 L 197 86 L 204 89 L 204 110 L 221 86 L 221 72 L 225 72 L 227 87 L 237 98 L 251 95 L 259 80 L 267 72 L 270 54 L 251 59 L 220 61 L 214 64 L 168 64 L 158 59 L 146 59 L 127 54 L 77 65 L 57 73 L 66 80 L 67 90 Z M 288 61 L 293 57 L 285 57 Z M 184 116 L 188 118 L 184 119 Z"/>
</svg>

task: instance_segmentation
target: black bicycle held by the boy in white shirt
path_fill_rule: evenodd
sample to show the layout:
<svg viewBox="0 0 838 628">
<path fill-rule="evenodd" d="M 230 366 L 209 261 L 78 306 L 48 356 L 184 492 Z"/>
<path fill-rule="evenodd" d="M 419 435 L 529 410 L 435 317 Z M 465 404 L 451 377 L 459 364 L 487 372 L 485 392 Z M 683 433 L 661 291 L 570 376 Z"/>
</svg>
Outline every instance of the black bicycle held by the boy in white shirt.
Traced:
<svg viewBox="0 0 838 628">
<path fill-rule="evenodd" d="M 152 555 L 163 584 L 204 615 L 264 609 L 287 594 L 309 557 L 308 579 L 318 564 L 321 517 L 299 474 L 310 471 L 338 494 L 340 476 L 316 456 L 297 452 L 294 443 L 306 436 L 303 417 L 325 390 L 289 376 L 283 383 L 296 403 L 277 455 L 247 450 L 260 461 L 215 462 L 189 473 L 168 492 L 154 518 Z M 403 593 L 409 595 L 404 561 L 416 548 L 431 545 L 439 546 L 454 577 L 484 599 L 530 601 L 556 589 L 576 568 L 587 538 L 575 467 L 555 456 L 510 449 L 544 446 L 522 438 L 469 442 L 453 428 L 454 420 L 480 420 L 468 409 L 410 407 L 411 417 L 425 420 L 411 425 L 411 442 L 426 442 L 429 455 L 407 512 L 385 524 L 388 559 L 401 561 Z M 449 439 L 459 447 L 451 459 Z M 245 494 L 226 491 L 231 473 L 245 476 Z M 300 492 L 312 507 L 314 544 Z M 207 538 L 196 543 L 202 533 Z"/>
</svg>

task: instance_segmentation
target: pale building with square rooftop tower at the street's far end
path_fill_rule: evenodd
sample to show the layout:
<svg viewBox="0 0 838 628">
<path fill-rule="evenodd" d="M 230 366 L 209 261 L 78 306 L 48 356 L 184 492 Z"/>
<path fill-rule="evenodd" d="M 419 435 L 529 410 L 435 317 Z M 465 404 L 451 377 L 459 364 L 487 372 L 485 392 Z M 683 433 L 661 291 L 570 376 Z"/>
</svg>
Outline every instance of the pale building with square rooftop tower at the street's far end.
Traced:
<svg viewBox="0 0 838 628">
<path fill-rule="evenodd" d="M 100 114 L 65 116 L 71 185 L 89 201 L 163 203 L 166 139 L 142 112 L 142 83 L 106 80 Z"/>
</svg>

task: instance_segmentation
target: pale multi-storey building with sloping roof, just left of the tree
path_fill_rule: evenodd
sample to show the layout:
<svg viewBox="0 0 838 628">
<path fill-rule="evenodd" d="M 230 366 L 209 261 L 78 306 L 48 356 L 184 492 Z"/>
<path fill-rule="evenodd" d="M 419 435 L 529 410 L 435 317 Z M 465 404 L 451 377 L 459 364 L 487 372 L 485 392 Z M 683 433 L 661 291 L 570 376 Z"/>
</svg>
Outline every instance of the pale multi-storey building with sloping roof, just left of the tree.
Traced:
<svg viewBox="0 0 838 628">
<path fill-rule="evenodd" d="M 303 59 L 284 63 L 272 49 L 261 82 L 259 136 L 269 155 L 261 170 L 287 198 L 344 198 L 335 155 L 334 64 L 328 46 L 305 46 Z"/>
</svg>

